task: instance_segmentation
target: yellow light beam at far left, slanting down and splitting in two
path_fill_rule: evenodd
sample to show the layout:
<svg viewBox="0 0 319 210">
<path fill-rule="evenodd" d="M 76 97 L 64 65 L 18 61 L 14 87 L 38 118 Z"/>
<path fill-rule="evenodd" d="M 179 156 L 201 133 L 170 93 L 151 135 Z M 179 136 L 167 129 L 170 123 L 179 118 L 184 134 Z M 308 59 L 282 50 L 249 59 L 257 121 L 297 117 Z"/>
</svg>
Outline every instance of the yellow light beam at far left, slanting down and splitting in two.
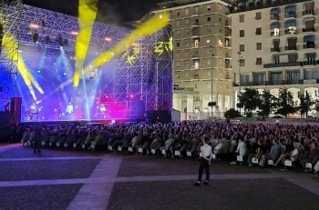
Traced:
<svg viewBox="0 0 319 210">
<path fill-rule="evenodd" d="M 17 51 L 18 45 L 15 38 L 11 35 L 5 34 L 3 38 L 3 46 L 5 48 L 5 53 L 10 56 L 12 62 L 17 61 L 17 70 L 24 79 L 26 86 L 28 87 L 30 94 L 36 100 L 36 93 L 32 85 L 36 87 L 36 90 L 40 94 L 44 94 L 41 86 L 36 82 L 35 77 L 30 73 L 27 68 L 22 55 Z M 9 55 L 10 54 L 10 55 Z"/>
</svg>

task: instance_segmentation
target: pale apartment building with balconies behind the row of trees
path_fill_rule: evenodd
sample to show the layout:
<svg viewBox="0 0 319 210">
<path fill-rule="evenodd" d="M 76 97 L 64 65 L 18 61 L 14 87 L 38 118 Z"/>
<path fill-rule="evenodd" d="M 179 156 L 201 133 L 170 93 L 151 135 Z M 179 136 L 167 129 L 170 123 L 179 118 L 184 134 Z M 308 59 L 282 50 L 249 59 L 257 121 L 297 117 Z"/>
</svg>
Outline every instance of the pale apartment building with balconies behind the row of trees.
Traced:
<svg viewBox="0 0 319 210">
<path fill-rule="evenodd" d="M 319 99 L 319 1 L 239 1 L 231 17 L 234 107 L 246 87 Z"/>
</svg>

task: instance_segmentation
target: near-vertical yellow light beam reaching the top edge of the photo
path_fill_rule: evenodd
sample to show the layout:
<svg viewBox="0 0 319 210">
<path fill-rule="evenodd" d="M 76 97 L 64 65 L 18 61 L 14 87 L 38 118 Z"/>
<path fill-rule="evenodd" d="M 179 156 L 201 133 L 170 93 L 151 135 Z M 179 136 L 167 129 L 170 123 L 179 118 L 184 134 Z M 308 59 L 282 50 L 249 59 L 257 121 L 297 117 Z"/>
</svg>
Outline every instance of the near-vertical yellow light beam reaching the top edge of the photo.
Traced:
<svg viewBox="0 0 319 210">
<path fill-rule="evenodd" d="M 92 35 L 92 27 L 98 13 L 98 0 L 78 1 L 78 25 L 79 33 L 76 42 L 76 71 L 74 74 L 74 86 L 78 86 L 81 77 L 83 63 L 87 57 L 87 49 Z"/>
</svg>

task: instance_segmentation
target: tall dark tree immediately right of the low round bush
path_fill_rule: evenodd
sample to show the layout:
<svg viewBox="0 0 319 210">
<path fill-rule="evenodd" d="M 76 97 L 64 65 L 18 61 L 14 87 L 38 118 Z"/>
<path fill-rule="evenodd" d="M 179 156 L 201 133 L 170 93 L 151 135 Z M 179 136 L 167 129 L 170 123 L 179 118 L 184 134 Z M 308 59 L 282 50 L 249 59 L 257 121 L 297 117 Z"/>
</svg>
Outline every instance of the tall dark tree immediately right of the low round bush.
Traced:
<svg viewBox="0 0 319 210">
<path fill-rule="evenodd" d="M 239 101 L 244 107 L 245 114 L 252 115 L 252 111 L 258 107 L 261 100 L 256 89 L 246 88 L 245 92 L 239 95 Z"/>
</svg>

